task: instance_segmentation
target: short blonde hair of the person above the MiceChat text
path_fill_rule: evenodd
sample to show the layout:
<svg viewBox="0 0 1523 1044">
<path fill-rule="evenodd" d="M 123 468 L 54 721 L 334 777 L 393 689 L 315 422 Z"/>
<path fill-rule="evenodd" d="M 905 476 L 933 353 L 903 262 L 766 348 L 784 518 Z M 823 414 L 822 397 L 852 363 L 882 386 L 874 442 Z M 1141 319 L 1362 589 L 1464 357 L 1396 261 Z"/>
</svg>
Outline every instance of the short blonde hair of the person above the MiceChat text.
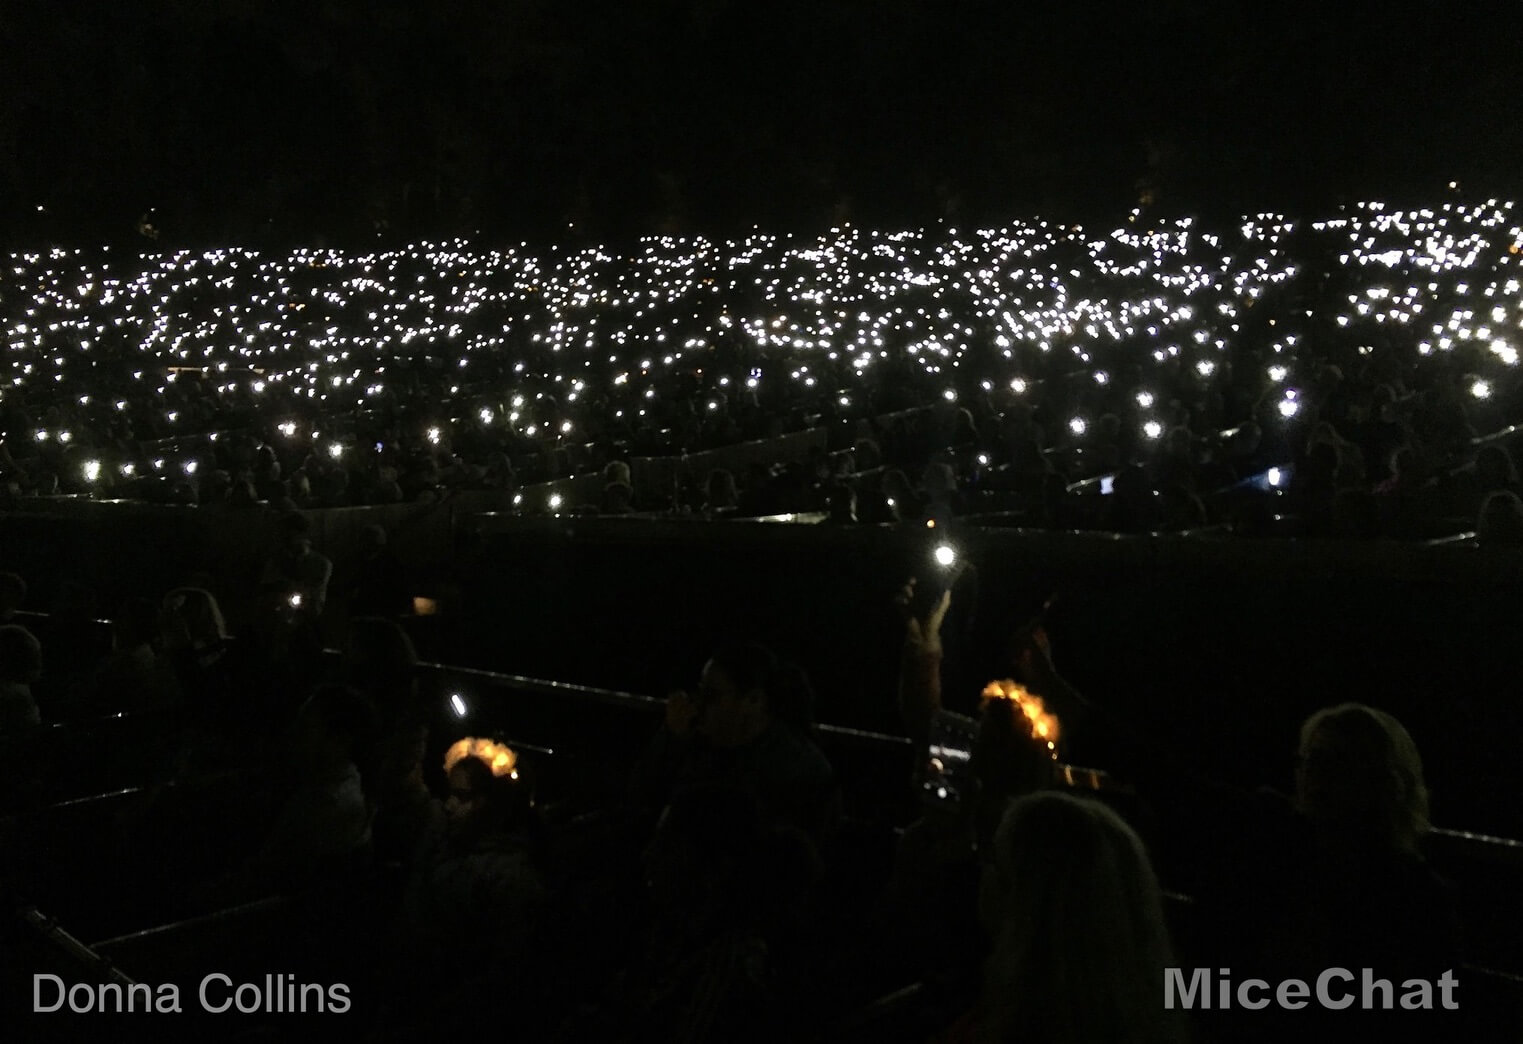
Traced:
<svg viewBox="0 0 1523 1044">
<path fill-rule="evenodd" d="M 1328 768 L 1343 800 L 1342 805 L 1308 800 L 1302 788 L 1301 811 L 1398 852 L 1416 852 L 1430 829 L 1429 791 L 1422 756 L 1406 727 L 1384 710 L 1343 703 L 1323 707 L 1301 725 L 1304 762 L 1317 736 L 1336 744 L 1337 761 Z"/>
</svg>

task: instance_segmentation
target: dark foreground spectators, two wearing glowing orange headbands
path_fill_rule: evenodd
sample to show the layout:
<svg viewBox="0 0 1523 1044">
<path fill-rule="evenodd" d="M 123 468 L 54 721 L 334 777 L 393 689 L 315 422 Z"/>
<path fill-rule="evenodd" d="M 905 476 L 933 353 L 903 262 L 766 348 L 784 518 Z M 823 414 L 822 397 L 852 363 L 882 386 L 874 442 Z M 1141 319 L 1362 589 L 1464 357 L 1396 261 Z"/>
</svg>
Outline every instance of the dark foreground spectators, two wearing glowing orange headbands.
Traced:
<svg viewBox="0 0 1523 1044">
<path fill-rule="evenodd" d="M 338 661 L 303 640 L 329 572 L 299 523 L 283 541 L 248 634 L 227 634 L 204 588 L 133 600 L 69 700 L 47 684 L 47 646 L 78 622 L 34 620 L 38 640 L 14 613 L 24 582 L 0 576 L 6 802 L 47 815 L 75 768 L 47 724 L 69 722 L 81 750 L 99 715 L 155 715 L 158 742 L 131 751 L 145 797 L 94 849 L 119 853 L 126 892 L 195 911 L 326 896 L 285 945 L 337 948 L 370 1038 L 469 1032 L 493 1010 L 564 1041 L 1346 1039 L 1371 1023 L 1171 1006 L 1168 969 L 1278 983 L 1369 968 L 1401 994 L 1461 968 L 1456 904 L 1422 860 L 1422 762 L 1375 707 L 1313 715 L 1293 796 L 1244 794 L 1200 825 L 1221 869 L 1186 908 L 1144 840 L 1167 809 L 1142 780 L 1074 786 L 1065 757 L 1121 725 L 1065 680 L 1040 619 L 1011 639 L 1019 681 L 956 715 L 941 697 L 953 594 L 905 588 L 899 707 L 917 757 L 885 847 L 842 800 L 807 674 L 766 646 L 726 643 L 670 693 L 620 794 L 547 806 L 553 754 L 451 742 L 460 722 L 420 686 L 394 617 L 355 617 Z M 29 887 L 26 866 L 11 889 Z M 358 936 L 321 934 L 355 908 Z M 877 1010 L 880 994 L 909 1000 Z M 1383 1039 L 1444 1033 L 1456 1015 L 1436 997 L 1365 1018 Z"/>
</svg>

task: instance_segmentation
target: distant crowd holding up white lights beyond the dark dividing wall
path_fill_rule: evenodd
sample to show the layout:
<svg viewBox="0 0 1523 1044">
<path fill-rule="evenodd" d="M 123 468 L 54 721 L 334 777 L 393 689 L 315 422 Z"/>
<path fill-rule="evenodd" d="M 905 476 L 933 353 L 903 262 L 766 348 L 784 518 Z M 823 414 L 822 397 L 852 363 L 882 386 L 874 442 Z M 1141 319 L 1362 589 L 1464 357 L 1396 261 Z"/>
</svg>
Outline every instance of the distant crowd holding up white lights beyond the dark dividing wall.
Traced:
<svg viewBox="0 0 1523 1044">
<path fill-rule="evenodd" d="M 763 442 L 743 472 L 518 503 L 883 521 L 956 494 L 1033 526 L 1515 533 L 1506 445 L 1473 447 L 1518 418 L 1511 215 L 12 255 L 0 491 L 396 503 L 824 428 L 824 459 Z M 1101 512 L 1065 503 L 1101 476 Z M 1220 495 L 1255 476 L 1292 503 Z"/>
</svg>

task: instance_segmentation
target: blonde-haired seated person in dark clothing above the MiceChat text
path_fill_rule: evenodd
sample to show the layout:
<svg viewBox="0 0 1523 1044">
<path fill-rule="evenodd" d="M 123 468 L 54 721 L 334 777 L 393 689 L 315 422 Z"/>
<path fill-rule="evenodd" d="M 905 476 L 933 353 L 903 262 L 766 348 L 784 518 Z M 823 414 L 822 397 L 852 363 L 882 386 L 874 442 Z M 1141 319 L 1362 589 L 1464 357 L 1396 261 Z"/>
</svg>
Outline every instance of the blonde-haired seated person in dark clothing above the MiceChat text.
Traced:
<svg viewBox="0 0 1523 1044">
<path fill-rule="evenodd" d="M 1211 950 L 1199 963 L 1232 968 L 1238 982 L 1314 982 L 1328 968 L 1369 968 L 1398 992 L 1407 978 L 1458 971 L 1456 907 L 1419 852 L 1427 815 L 1422 761 L 1401 722 L 1354 703 L 1311 715 L 1301 727 L 1295 803 L 1264 796 L 1238 825 L 1237 860 L 1197 896 Z M 1409 1023 L 1415 1015 L 1394 1014 Z M 1346 1039 L 1346 1015 L 1238 1029 L 1275 1039 L 1295 1024 Z"/>
</svg>

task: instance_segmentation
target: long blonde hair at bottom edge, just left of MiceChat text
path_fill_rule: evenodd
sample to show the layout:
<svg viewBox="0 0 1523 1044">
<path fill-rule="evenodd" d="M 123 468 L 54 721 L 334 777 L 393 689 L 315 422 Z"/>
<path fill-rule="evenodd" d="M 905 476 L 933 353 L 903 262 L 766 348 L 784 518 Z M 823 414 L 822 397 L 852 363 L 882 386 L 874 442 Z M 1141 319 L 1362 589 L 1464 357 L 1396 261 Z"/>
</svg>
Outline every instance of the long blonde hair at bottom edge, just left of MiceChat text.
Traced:
<svg viewBox="0 0 1523 1044">
<path fill-rule="evenodd" d="M 984 914 L 984 1039 L 1154 1044 L 1185 1038 L 1164 1007 L 1173 965 L 1142 841 L 1104 805 L 1045 791 L 995 834 Z"/>
</svg>

